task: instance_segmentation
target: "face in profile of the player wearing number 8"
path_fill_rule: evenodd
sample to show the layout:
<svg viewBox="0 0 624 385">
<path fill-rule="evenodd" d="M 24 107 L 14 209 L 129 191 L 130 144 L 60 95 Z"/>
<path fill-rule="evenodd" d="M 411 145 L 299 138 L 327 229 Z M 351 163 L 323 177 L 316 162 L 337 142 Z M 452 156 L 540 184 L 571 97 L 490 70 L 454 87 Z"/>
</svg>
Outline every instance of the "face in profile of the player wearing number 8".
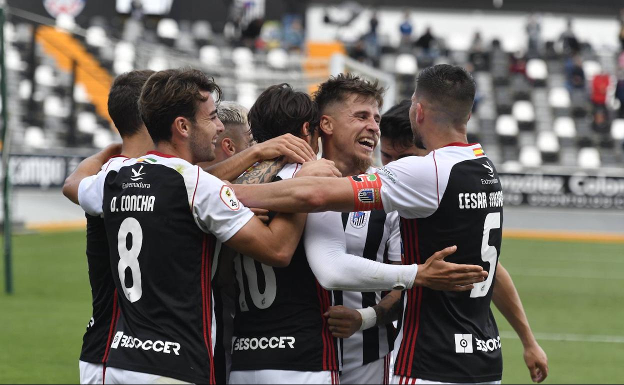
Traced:
<svg viewBox="0 0 624 385">
<path fill-rule="evenodd" d="M 202 91 L 208 100 L 198 105 L 195 123 L 190 132 L 190 147 L 193 163 L 210 162 L 215 159 L 217 137 L 223 132 L 223 123 L 217 117 L 217 105 L 210 92 Z"/>
</svg>

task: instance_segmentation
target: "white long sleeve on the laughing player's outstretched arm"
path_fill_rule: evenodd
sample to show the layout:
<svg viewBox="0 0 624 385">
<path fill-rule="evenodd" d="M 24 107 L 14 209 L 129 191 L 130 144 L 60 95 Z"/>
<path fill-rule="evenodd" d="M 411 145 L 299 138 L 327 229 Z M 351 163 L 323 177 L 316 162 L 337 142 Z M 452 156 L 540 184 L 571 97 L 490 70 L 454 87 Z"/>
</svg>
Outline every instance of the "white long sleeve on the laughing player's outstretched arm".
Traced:
<svg viewBox="0 0 624 385">
<path fill-rule="evenodd" d="M 346 253 L 340 213 L 308 214 L 304 242 L 310 268 L 326 290 L 402 290 L 414 285 L 417 265 L 389 265 Z"/>
</svg>

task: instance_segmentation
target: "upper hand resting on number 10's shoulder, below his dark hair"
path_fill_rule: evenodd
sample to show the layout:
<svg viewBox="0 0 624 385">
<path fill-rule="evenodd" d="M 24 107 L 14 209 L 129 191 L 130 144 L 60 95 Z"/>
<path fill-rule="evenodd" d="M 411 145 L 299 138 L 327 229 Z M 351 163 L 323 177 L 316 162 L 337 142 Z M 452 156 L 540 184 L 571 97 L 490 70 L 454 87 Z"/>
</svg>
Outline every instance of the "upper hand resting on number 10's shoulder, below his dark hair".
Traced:
<svg viewBox="0 0 624 385">
<path fill-rule="evenodd" d="M 286 157 L 287 163 L 304 163 L 316 159 L 312 147 L 293 134 L 284 134 L 251 147 L 258 151 L 258 161 Z"/>
</svg>

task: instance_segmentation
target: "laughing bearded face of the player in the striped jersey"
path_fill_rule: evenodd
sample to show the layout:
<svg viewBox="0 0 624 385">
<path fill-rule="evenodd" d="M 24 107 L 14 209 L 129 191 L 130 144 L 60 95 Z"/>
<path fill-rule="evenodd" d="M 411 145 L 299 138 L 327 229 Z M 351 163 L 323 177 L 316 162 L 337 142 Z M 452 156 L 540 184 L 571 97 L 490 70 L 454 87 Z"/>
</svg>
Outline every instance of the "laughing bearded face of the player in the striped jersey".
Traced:
<svg viewBox="0 0 624 385">
<path fill-rule="evenodd" d="M 353 158 L 362 172 L 373 162 L 373 151 L 379 144 L 379 107 L 372 98 L 353 94 L 346 102 L 333 107 L 332 147 L 345 158 Z"/>
</svg>

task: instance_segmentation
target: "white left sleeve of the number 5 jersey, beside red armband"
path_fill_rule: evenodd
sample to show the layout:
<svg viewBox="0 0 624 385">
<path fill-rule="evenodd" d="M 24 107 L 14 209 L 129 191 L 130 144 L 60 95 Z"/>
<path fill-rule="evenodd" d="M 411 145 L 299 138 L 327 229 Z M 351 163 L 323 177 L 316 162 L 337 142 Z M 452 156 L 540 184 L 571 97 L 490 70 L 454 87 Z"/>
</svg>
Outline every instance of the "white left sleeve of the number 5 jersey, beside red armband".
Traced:
<svg viewBox="0 0 624 385">
<path fill-rule="evenodd" d="M 381 201 L 386 213 L 403 218 L 426 218 L 440 205 L 448 179 L 438 180 L 435 152 L 426 157 L 405 157 L 379 169 Z"/>
</svg>

